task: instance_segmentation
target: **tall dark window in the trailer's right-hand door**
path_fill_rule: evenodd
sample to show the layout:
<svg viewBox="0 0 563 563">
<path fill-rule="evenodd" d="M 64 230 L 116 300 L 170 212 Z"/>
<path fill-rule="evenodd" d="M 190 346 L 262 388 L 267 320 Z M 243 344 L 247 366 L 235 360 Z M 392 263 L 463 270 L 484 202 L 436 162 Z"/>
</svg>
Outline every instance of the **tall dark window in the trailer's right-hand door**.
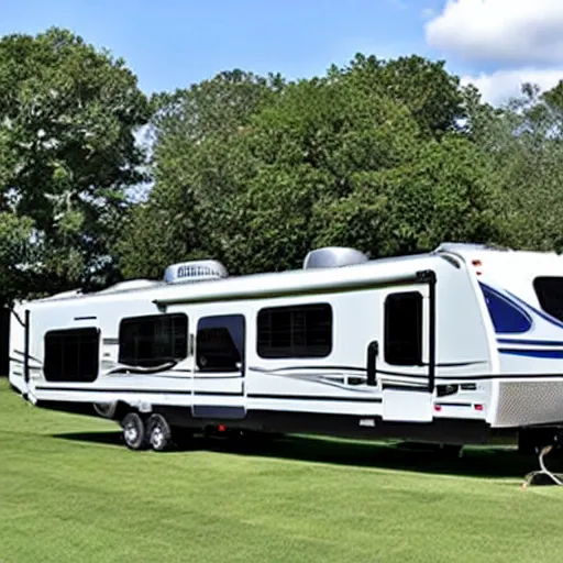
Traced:
<svg viewBox="0 0 563 563">
<path fill-rule="evenodd" d="M 385 361 L 422 364 L 422 296 L 418 291 L 391 294 L 385 300 Z"/>
</svg>

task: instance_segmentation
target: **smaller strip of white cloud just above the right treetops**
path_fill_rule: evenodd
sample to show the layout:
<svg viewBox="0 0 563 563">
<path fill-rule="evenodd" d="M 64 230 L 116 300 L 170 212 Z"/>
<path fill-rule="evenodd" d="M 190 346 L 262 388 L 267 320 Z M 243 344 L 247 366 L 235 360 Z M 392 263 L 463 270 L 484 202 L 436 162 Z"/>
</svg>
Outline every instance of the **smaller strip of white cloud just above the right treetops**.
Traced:
<svg viewBox="0 0 563 563">
<path fill-rule="evenodd" d="M 462 77 L 462 85 L 473 84 L 482 92 L 485 101 L 498 106 L 514 96 L 518 96 L 525 82 L 536 84 L 541 90 L 549 90 L 563 79 L 563 67 L 538 70 L 520 68 L 517 70 L 497 70 L 478 76 Z"/>
</svg>

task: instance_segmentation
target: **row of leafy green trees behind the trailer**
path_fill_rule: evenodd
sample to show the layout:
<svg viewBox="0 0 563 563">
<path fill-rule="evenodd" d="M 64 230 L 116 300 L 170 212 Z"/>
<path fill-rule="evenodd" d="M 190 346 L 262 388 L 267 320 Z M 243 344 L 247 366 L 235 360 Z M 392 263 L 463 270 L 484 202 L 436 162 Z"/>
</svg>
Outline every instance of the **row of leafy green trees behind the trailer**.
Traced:
<svg viewBox="0 0 563 563">
<path fill-rule="evenodd" d="M 560 252 L 562 125 L 563 82 L 494 108 L 417 55 L 292 81 L 233 69 L 148 98 L 123 59 L 67 30 L 7 35 L 0 300 L 199 257 L 284 271 L 322 245 Z"/>
</svg>

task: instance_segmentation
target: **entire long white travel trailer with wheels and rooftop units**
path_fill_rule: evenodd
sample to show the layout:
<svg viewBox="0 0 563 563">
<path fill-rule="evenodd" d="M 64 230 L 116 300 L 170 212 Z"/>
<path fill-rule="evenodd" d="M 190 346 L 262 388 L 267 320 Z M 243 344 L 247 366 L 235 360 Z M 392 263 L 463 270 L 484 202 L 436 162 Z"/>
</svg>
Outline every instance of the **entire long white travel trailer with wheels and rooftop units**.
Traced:
<svg viewBox="0 0 563 563">
<path fill-rule="evenodd" d="M 443 244 L 368 261 L 163 282 L 13 311 L 10 382 L 34 405 L 112 418 L 131 449 L 218 428 L 484 443 L 563 427 L 563 258 Z"/>
</svg>

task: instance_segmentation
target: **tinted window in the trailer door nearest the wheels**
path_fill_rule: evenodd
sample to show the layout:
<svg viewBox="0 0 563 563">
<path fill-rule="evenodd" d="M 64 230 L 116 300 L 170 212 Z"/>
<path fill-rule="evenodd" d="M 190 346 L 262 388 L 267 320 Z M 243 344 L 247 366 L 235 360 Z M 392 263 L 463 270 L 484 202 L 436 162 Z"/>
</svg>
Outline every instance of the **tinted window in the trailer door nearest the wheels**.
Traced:
<svg viewBox="0 0 563 563">
<path fill-rule="evenodd" d="M 200 372 L 240 372 L 244 357 L 244 317 L 203 317 L 198 322 L 196 363 Z"/>
</svg>

